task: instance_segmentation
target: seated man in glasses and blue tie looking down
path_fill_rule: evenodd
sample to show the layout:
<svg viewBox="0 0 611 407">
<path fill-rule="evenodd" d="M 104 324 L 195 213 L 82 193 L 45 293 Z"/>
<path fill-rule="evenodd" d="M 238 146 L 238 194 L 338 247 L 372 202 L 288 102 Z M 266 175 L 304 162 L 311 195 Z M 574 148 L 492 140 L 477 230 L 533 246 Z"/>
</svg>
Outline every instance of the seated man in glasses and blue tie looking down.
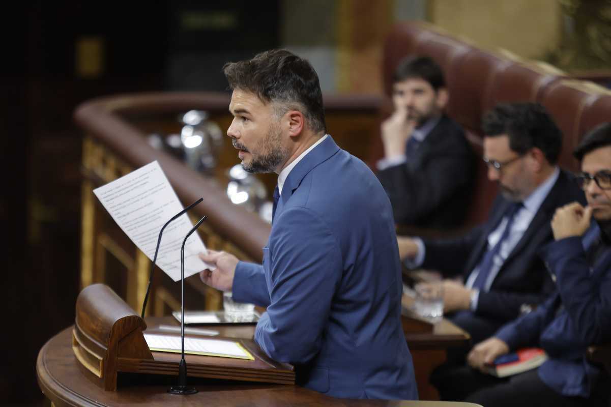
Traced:
<svg viewBox="0 0 611 407">
<path fill-rule="evenodd" d="M 556 165 L 562 134 L 543 106 L 498 105 L 484 116 L 483 131 L 488 178 L 500 188 L 488 220 L 449 240 L 399 238 L 408 266 L 461 277 L 444 281 L 444 311 L 472 343 L 554 292 L 536 251 L 552 240 L 549 222 L 556 208 L 585 203 L 583 192 Z M 457 354 L 462 362 L 464 350 Z"/>
</svg>

